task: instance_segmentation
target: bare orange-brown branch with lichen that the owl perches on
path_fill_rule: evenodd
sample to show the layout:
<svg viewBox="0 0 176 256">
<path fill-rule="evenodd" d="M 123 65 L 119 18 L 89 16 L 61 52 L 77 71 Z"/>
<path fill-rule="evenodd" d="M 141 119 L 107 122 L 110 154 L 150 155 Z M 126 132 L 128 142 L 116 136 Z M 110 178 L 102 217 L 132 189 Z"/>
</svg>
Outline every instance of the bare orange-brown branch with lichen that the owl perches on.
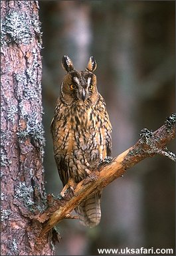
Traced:
<svg viewBox="0 0 176 256">
<path fill-rule="evenodd" d="M 100 170 L 92 172 L 90 176 L 87 176 L 82 182 L 76 184 L 74 195 L 67 199 L 51 200 L 52 206 L 49 206 L 41 215 L 35 216 L 35 219 L 41 222 L 45 221 L 41 235 L 47 233 L 54 225 L 62 221 L 62 219 L 70 217 L 72 210 L 90 195 L 90 193 L 96 193 L 98 190 L 102 190 L 102 188 L 122 176 L 127 169 L 144 158 L 161 154 L 165 150 L 165 146 L 175 138 L 175 114 L 169 116 L 165 124 L 155 132 L 144 128 L 141 130 L 140 137 L 132 148 L 129 148 L 114 158 L 110 163 L 103 164 Z"/>
</svg>

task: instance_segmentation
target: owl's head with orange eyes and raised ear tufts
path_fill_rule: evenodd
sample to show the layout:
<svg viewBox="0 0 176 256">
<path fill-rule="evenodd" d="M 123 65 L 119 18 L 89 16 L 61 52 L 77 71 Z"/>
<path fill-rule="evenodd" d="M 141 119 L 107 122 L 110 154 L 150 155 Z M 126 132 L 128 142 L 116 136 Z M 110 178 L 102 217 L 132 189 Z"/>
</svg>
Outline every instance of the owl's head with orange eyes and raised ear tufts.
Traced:
<svg viewBox="0 0 176 256">
<path fill-rule="evenodd" d="M 62 58 L 62 67 L 67 74 L 62 80 L 60 88 L 60 98 L 66 104 L 95 104 L 98 99 L 98 90 L 96 87 L 96 61 L 90 57 L 86 69 L 77 71 L 71 59 L 64 55 Z"/>
</svg>

